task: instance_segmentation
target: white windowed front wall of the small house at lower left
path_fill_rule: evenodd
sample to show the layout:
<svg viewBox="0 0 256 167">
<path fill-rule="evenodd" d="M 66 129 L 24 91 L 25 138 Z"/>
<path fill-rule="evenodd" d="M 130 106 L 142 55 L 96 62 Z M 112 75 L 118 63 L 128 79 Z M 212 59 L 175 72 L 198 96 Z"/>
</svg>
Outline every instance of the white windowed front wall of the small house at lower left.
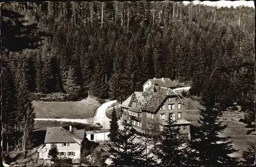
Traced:
<svg viewBox="0 0 256 167">
<path fill-rule="evenodd" d="M 79 159 L 80 158 L 80 146 L 77 143 L 70 143 L 69 147 L 62 147 L 61 143 L 56 144 L 58 152 L 66 152 L 67 158 Z M 40 147 L 40 149 L 47 149 L 46 152 L 39 152 L 39 159 L 50 159 L 48 157 L 49 150 L 51 149 L 51 144 L 46 144 L 45 147 Z M 68 152 L 75 152 L 75 156 L 68 156 Z M 64 158 L 61 156 L 60 158 Z"/>
</svg>

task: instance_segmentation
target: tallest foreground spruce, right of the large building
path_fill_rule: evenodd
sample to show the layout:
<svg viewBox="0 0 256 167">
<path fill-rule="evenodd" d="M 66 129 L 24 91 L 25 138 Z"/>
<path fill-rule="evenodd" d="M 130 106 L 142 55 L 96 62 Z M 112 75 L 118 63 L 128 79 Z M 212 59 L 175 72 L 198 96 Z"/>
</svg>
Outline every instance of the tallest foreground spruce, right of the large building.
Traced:
<svg viewBox="0 0 256 167">
<path fill-rule="evenodd" d="M 216 74 L 213 72 L 205 83 L 198 132 L 189 142 L 189 161 L 195 165 L 237 164 L 238 160 L 230 156 L 237 152 L 229 141 L 230 137 L 222 136 L 227 124 L 222 125 L 222 110 L 216 103 Z"/>
</svg>

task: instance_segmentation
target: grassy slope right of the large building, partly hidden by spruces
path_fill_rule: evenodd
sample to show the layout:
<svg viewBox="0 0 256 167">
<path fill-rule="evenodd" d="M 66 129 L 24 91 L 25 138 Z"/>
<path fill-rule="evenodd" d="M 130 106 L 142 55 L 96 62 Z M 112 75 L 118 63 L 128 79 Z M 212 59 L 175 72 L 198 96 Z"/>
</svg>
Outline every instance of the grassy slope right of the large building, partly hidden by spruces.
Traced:
<svg viewBox="0 0 256 167">
<path fill-rule="evenodd" d="M 187 120 L 190 121 L 192 126 L 198 126 L 197 120 L 199 119 L 200 114 L 198 111 L 194 112 L 187 112 Z M 228 120 L 226 120 L 228 119 Z M 255 140 L 254 134 L 246 134 L 246 132 L 249 130 L 248 128 L 245 128 L 245 124 L 238 123 L 231 121 L 231 118 L 227 115 L 223 115 L 221 121 L 223 121 L 223 124 L 228 123 L 227 128 L 224 130 L 223 135 L 224 136 L 230 136 L 231 141 L 233 141 L 233 147 L 234 149 L 239 150 L 234 155 L 237 155 L 238 157 L 242 156 L 242 149 L 247 149 L 247 142 L 253 142 Z M 191 127 L 193 128 L 193 127 Z M 192 133 L 192 132 L 191 132 Z M 193 135 L 193 134 L 191 134 Z"/>
</svg>

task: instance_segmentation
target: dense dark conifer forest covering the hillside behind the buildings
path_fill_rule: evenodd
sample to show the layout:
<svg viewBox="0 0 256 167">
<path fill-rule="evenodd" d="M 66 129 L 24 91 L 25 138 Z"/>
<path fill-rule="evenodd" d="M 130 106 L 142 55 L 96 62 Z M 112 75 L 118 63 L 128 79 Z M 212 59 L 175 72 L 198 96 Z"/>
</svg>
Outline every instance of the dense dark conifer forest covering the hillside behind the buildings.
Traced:
<svg viewBox="0 0 256 167">
<path fill-rule="evenodd" d="M 253 8 L 28 2 L 2 4 L 1 14 L 2 106 L 12 111 L 2 116 L 4 135 L 23 132 L 24 147 L 35 117 L 30 92 L 121 102 L 153 77 L 189 82 L 195 96 L 210 83 L 220 108 L 236 102 L 255 119 Z"/>
</svg>

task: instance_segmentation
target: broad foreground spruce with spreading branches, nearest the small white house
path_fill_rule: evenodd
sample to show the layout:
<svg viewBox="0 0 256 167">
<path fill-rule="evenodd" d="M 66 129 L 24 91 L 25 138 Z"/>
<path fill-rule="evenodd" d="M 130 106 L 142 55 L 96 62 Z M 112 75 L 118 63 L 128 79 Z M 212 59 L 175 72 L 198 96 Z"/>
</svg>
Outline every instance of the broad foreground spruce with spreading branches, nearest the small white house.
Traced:
<svg viewBox="0 0 256 167">
<path fill-rule="evenodd" d="M 150 165 L 154 163 L 150 153 L 146 153 L 145 144 L 135 142 L 135 129 L 130 128 L 126 122 L 123 123 L 123 129 L 118 130 L 117 142 L 108 143 L 108 151 L 111 154 L 110 160 L 113 165 Z"/>
</svg>

